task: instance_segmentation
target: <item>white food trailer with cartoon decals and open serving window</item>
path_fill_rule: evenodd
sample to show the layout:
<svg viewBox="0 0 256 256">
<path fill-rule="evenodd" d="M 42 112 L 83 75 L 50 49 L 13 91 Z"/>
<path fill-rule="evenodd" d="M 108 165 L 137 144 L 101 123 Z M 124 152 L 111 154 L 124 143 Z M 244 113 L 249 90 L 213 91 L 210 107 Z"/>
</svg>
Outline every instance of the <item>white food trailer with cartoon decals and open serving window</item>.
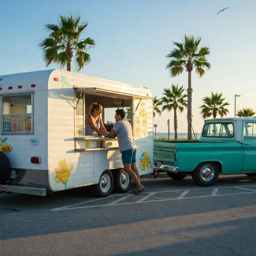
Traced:
<svg viewBox="0 0 256 256">
<path fill-rule="evenodd" d="M 117 108 L 133 128 L 140 174 L 153 173 L 153 97 L 147 87 L 64 70 L 0 76 L 0 190 L 46 195 L 93 185 L 98 196 L 127 192 L 116 138 L 85 136 L 91 103 L 107 131 Z M 106 147 L 100 148 L 100 140 Z"/>
</svg>

